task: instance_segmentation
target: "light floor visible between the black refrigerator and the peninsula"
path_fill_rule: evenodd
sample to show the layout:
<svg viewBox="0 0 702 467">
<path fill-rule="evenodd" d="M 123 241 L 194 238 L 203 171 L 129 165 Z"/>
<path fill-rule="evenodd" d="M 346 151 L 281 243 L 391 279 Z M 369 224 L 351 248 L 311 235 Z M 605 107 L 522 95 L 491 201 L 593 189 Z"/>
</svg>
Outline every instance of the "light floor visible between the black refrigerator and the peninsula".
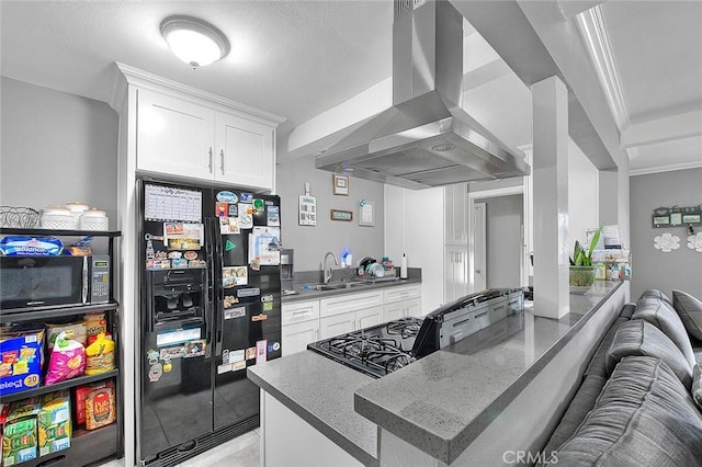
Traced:
<svg viewBox="0 0 702 467">
<path fill-rule="evenodd" d="M 179 464 L 179 467 L 259 467 L 259 429 L 250 431 L 206 453 Z M 123 467 L 123 459 L 100 467 Z"/>
</svg>

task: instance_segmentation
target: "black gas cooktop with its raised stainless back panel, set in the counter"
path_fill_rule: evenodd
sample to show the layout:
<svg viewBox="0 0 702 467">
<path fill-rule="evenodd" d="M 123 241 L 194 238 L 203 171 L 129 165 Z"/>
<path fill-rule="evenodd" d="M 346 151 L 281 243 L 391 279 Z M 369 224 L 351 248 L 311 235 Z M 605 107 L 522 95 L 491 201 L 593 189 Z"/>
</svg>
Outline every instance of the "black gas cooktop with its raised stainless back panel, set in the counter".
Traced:
<svg viewBox="0 0 702 467">
<path fill-rule="evenodd" d="M 400 318 L 307 349 L 380 378 L 523 309 L 523 289 L 491 288 L 458 298 L 423 319 Z"/>
</svg>

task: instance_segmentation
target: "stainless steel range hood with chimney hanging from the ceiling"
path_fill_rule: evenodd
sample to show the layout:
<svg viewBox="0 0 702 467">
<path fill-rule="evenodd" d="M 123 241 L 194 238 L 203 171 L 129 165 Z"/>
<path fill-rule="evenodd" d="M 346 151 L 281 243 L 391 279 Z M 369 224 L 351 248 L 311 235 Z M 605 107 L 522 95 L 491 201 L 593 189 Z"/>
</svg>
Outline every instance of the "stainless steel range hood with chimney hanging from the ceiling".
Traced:
<svg viewBox="0 0 702 467">
<path fill-rule="evenodd" d="M 529 174 L 461 106 L 463 16 L 445 0 L 395 0 L 393 106 L 316 159 L 317 169 L 423 189 Z"/>
</svg>

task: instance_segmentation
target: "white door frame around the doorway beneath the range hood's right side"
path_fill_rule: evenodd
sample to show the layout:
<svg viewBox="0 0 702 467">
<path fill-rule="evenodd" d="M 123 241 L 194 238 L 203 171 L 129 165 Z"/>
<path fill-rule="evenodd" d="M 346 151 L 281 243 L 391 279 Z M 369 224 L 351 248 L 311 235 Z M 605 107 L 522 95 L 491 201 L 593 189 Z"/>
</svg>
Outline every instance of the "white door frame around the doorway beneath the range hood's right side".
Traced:
<svg viewBox="0 0 702 467">
<path fill-rule="evenodd" d="M 471 293 L 475 292 L 475 223 L 473 221 L 473 212 L 475 210 L 475 203 L 479 200 L 488 198 L 488 197 L 499 197 L 499 196 L 510 196 L 521 194 L 523 198 L 524 208 L 522 209 L 522 219 L 523 219 L 523 229 L 521 232 L 522 239 L 522 254 L 520 255 L 520 269 L 519 269 L 519 277 L 520 277 L 520 286 L 529 285 L 529 261 L 525 261 L 528 254 L 528 246 L 526 238 L 524 232 L 530 231 L 529 223 L 531 221 L 528 214 L 526 207 L 526 196 L 524 196 L 524 186 L 514 185 L 514 186 L 506 186 L 503 189 L 494 189 L 494 190 L 483 190 L 478 192 L 468 192 L 468 291 Z M 487 246 L 487 241 L 485 241 Z M 486 264 L 487 266 L 487 264 Z M 487 281 L 487 276 L 486 276 Z"/>
</svg>

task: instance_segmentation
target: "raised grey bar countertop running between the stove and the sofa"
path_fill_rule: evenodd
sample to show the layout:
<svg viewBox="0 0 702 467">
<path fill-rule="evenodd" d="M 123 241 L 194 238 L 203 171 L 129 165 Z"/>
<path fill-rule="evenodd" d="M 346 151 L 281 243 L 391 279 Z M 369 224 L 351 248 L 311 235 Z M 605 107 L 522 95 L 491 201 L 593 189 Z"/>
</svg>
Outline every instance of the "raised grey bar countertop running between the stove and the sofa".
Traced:
<svg viewBox="0 0 702 467">
<path fill-rule="evenodd" d="M 525 307 L 360 388 L 355 411 L 450 464 L 618 287 L 600 283 L 596 293 L 571 294 L 570 312 L 561 320 Z"/>
</svg>

